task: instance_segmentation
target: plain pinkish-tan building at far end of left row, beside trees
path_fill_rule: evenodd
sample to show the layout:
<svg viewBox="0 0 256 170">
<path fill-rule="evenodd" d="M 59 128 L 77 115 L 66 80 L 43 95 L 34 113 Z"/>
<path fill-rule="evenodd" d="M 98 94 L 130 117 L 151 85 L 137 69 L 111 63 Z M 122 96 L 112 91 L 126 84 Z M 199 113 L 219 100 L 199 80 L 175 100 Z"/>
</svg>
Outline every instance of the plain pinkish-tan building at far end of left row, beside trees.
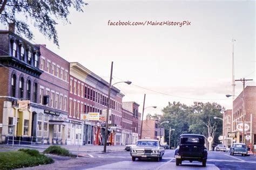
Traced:
<svg viewBox="0 0 256 170">
<path fill-rule="evenodd" d="M 142 128 L 142 139 L 150 138 L 150 139 L 158 139 L 158 121 L 156 119 L 146 119 L 143 121 Z"/>
</svg>

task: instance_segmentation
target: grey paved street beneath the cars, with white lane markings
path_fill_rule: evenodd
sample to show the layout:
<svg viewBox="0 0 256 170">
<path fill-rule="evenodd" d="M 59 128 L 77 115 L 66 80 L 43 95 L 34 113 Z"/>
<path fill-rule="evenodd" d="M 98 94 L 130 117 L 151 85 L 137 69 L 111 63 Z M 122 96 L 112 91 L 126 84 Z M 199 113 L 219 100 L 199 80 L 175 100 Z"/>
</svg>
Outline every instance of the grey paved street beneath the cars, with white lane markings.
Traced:
<svg viewBox="0 0 256 170">
<path fill-rule="evenodd" d="M 83 157 L 66 158 L 52 156 L 54 164 L 42 165 L 24 169 L 256 169 L 256 157 L 253 155 L 242 157 L 241 155 L 230 155 L 229 152 L 208 152 L 206 167 L 200 162 L 184 161 L 182 165 L 176 166 L 174 150 L 165 150 L 161 161 L 138 160 L 132 161 L 127 151 L 116 151 L 109 153 L 84 153 Z"/>
</svg>

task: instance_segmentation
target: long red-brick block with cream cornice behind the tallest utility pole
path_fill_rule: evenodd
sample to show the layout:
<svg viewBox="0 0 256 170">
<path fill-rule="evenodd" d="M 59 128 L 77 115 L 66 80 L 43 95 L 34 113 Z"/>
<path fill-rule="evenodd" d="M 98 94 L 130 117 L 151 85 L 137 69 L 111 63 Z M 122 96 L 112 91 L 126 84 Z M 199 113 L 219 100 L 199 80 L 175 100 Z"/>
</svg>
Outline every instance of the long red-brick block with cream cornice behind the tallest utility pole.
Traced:
<svg viewBox="0 0 256 170">
<path fill-rule="evenodd" d="M 70 63 L 69 119 L 80 121 L 81 113 L 97 112 L 102 115 L 107 108 L 109 83 L 80 65 Z M 115 87 L 110 94 L 109 141 L 112 145 L 121 144 L 122 131 L 122 98 L 124 95 Z M 71 133 L 75 134 L 75 129 Z M 85 121 L 83 127 L 83 144 L 103 145 L 105 122 Z M 71 141 L 73 144 L 73 141 Z"/>
</svg>

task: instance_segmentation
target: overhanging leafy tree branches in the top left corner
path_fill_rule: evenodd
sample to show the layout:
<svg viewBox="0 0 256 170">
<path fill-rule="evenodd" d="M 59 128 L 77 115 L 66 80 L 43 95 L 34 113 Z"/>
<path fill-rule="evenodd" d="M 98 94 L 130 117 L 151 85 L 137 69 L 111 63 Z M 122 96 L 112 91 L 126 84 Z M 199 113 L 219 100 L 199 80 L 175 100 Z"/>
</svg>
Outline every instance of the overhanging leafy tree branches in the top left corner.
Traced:
<svg viewBox="0 0 256 170">
<path fill-rule="evenodd" d="M 67 18 L 70 13 L 69 9 L 73 7 L 77 11 L 83 12 L 82 8 L 84 5 L 87 5 L 87 3 L 83 2 L 83 0 L 0 0 L 0 22 L 4 25 L 14 23 L 17 34 L 32 39 L 33 33 L 27 24 L 28 18 L 31 18 L 33 25 L 45 37 L 50 40 L 53 39 L 53 42 L 59 46 L 57 31 L 55 29 L 58 24 L 56 20 L 60 18 L 63 22 L 70 24 Z M 21 19 L 24 17 L 26 21 Z"/>
</svg>

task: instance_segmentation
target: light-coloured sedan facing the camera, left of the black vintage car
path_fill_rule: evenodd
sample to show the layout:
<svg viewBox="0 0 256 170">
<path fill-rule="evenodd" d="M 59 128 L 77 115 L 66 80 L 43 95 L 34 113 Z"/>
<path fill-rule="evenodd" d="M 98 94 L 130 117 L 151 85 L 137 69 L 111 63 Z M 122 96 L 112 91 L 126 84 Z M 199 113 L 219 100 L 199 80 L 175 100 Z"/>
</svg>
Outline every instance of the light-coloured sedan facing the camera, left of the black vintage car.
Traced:
<svg viewBox="0 0 256 170">
<path fill-rule="evenodd" d="M 161 160 L 164 155 L 164 147 L 160 146 L 158 140 L 155 139 L 140 139 L 136 146 L 132 146 L 130 150 L 132 161 L 136 158 L 153 158 L 157 161 Z"/>
</svg>

